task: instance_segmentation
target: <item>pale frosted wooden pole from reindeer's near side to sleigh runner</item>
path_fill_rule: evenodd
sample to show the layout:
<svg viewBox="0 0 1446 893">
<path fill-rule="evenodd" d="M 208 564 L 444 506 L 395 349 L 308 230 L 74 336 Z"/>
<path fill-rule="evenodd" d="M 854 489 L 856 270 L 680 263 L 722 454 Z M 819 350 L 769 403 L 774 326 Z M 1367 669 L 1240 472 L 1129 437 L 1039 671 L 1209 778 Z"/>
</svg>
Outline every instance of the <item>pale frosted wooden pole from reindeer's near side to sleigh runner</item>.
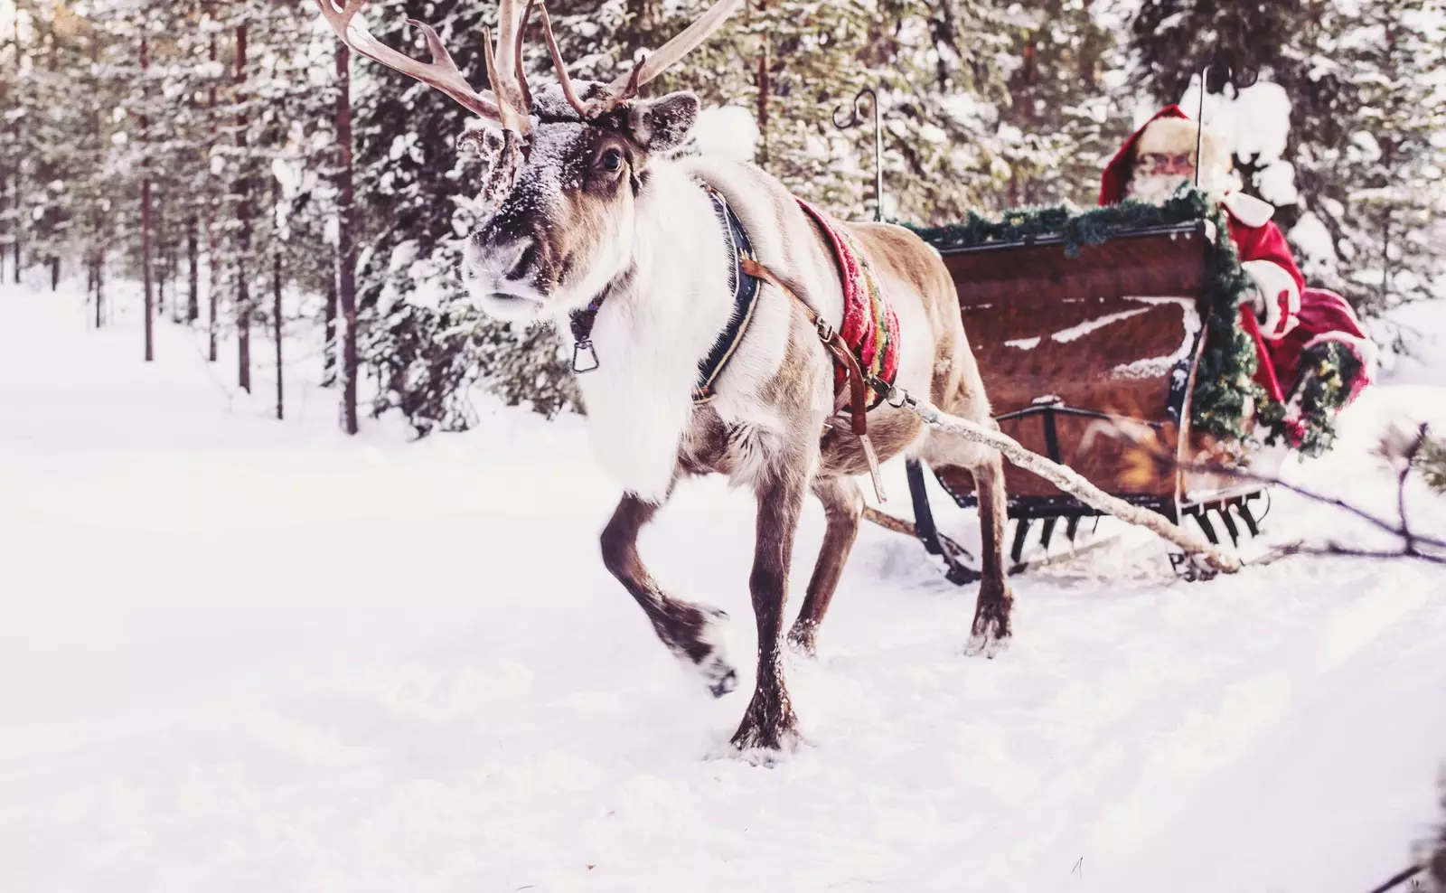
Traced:
<svg viewBox="0 0 1446 893">
<path fill-rule="evenodd" d="M 1190 533 L 1178 525 L 1170 523 L 1170 520 L 1163 514 L 1151 512 L 1150 509 L 1141 509 L 1139 506 L 1131 506 L 1125 500 L 1105 493 L 1095 484 L 1084 480 L 1073 468 L 1060 465 L 1058 462 L 1051 462 L 1043 455 L 1025 449 L 1018 441 L 1005 433 L 992 431 L 976 422 L 940 412 L 937 406 L 928 400 L 921 400 L 914 394 L 905 394 L 904 407 L 917 413 L 918 418 L 924 419 L 925 425 L 936 431 L 943 431 L 946 433 L 964 438 L 966 441 L 973 441 L 998 449 L 1006 460 L 1019 468 L 1040 475 L 1092 509 L 1098 509 L 1105 514 L 1118 517 L 1125 523 L 1145 527 L 1161 539 L 1184 549 L 1186 555 L 1199 555 L 1216 571 L 1235 574 L 1241 569 L 1239 558 L 1212 546 L 1205 540 L 1205 538 Z"/>
</svg>

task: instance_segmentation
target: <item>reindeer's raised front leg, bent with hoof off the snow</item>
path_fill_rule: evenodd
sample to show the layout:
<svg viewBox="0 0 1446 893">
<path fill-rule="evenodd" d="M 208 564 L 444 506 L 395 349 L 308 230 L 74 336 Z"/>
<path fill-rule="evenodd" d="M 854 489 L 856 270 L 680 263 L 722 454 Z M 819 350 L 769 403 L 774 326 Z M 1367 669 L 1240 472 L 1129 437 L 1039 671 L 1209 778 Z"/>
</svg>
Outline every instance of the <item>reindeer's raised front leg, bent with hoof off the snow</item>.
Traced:
<svg viewBox="0 0 1446 893">
<path fill-rule="evenodd" d="M 694 666 L 714 698 L 737 688 L 737 672 L 729 663 L 719 627 L 727 614 L 719 608 L 671 598 L 648 574 L 638 556 L 638 533 L 658 513 L 659 506 L 635 496 L 623 496 L 603 529 L 603 564 L 638 600 L 658 639 L 680 660 Z"/>
</svg>

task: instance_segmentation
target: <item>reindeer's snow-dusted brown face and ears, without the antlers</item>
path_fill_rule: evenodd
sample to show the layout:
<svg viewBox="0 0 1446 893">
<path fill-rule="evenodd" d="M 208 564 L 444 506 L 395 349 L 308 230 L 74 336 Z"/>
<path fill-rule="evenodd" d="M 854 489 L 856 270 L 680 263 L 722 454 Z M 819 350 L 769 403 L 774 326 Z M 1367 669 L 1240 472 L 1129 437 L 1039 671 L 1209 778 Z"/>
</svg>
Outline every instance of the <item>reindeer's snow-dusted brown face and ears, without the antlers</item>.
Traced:
<svg viewBox="0 0 1446 893">
<path fill-rule="evenodd" d="M 669 94 L 583 121 L 560 88 L 539 91 L 525 150 L 487 137 L 489 178 L 506 179 L 484 184 L 499 201 L 463 253 L 471 301 L 490 316 L 532 321 L 584 306 L 626 273 L 649 153 L 687 139 L 697 108 L 691 94 Z"/>
</svg>

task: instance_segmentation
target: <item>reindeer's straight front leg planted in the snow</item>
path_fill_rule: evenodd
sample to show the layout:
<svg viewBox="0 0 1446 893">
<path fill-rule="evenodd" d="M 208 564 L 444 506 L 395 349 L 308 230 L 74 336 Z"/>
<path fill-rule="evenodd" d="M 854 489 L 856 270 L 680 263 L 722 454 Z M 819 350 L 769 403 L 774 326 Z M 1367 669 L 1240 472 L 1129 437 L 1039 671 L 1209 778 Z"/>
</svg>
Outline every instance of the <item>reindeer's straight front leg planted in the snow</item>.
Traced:
<svg viewBox="0 0 1446 893">
<path fill-rule="evenodd" d="M 804 462 L 794 468 L 769 468 L 756 490 L 758 529 L 748 585 L 758 621 L 758 683 L 733 734 L 733 747 L 742 751 L 785 750 L 798 741 L 798 720 L 784 685 L 782 631 L 788 562 L 807 478 Z"/>
</svg>

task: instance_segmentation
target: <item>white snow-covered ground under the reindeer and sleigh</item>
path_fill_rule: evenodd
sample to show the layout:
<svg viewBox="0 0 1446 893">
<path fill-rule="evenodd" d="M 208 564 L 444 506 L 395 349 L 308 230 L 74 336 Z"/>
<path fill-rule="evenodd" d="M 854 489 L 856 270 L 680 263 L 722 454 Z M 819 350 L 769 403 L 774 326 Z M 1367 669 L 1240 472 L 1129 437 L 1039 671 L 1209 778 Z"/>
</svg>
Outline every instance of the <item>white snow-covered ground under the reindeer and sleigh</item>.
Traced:
<svg viewBox="0 0 1446 893">
<path fill-rule="evenodd" d="M 325 390 L 291 383 L 276 422 L 268 377 L 236 394 L 185 329 L 147 366 L 133 314 L 85 316 L 0 290 L 6 893 L 1355 892 L 1440 818 L 1440 569 L 1184 584 L 1135 539 L 1017 578 L 1014 647 L 982 660 L 973 591 L 868 529 L 790 665 L 811 746 L 709 759 L 750 681 L 711 699 L 602 568 L 616 494 L 578 419 L 346 439 Z M 1442 366 L 1411 368 L 1290 474 L 1388 507 L 1379 426 L 1446 423 Z M 643 539 L 733 616 L 746 672 L 750 525 L 700 483 Z M 1268 527 L 1355 529 L 1284 496 Z M 820 536 L 810 506 L 795 592 Z"/>
</svg>

